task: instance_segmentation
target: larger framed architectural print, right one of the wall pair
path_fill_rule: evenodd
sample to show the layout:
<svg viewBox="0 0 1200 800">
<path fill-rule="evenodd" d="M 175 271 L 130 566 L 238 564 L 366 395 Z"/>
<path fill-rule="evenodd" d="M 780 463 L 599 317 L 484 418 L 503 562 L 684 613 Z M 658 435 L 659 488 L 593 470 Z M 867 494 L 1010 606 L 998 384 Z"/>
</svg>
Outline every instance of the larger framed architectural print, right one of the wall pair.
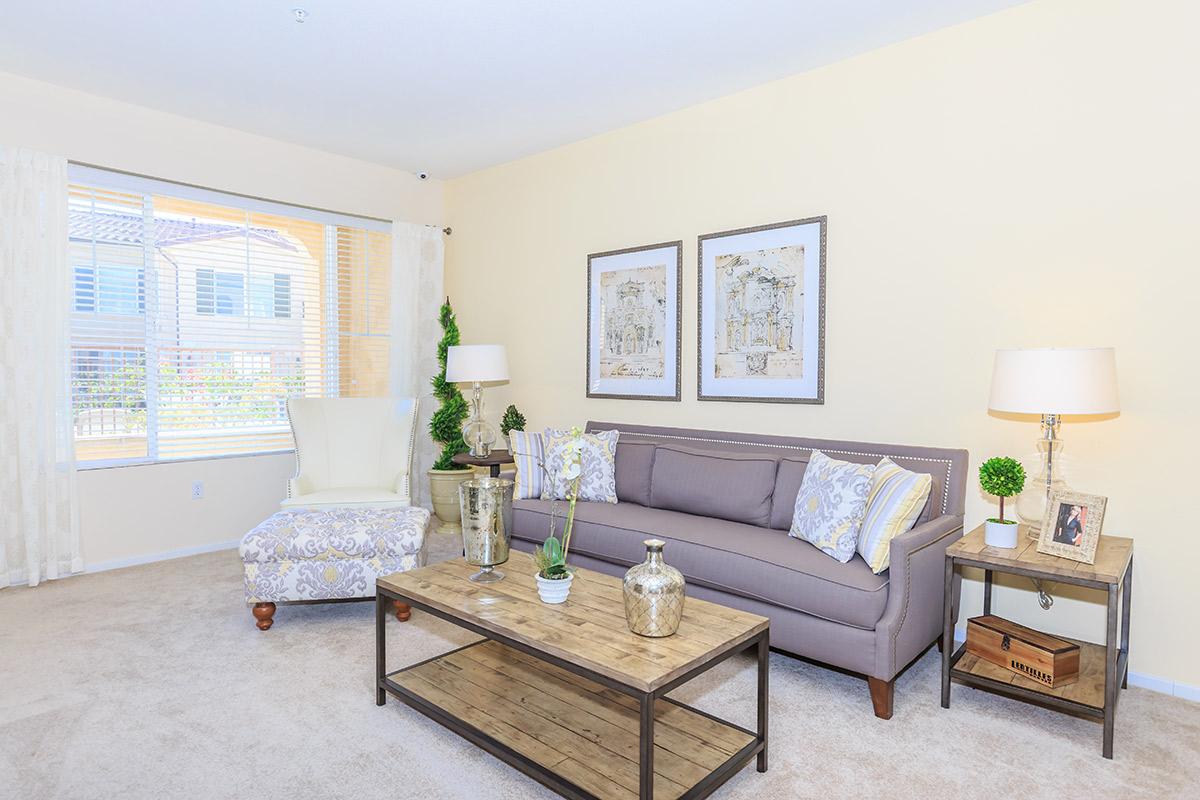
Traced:
<svg viewBox="0 0 1200 800">
<path fill-rule="evenodd" d="M 700 236 L 697 397 L 824 403 L 826 217 Z"/>
</svg>

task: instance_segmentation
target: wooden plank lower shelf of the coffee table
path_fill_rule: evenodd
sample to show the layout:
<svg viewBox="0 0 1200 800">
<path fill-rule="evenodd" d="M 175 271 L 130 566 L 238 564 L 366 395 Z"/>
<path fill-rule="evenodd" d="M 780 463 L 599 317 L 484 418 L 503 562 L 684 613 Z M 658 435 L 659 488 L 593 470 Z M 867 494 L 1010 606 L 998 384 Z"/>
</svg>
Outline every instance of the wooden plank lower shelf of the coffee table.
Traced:
<svg viewBox="0 0 1200 800">
<path fill-rule="evenodd" d="M 397 699 L 569 798 L 638 796 L 638 702 L 499 642 L 388 674 Z M 654 796 L 702 798 L 761 750 L 668 698 L 654 708 Z"/>
</svg>

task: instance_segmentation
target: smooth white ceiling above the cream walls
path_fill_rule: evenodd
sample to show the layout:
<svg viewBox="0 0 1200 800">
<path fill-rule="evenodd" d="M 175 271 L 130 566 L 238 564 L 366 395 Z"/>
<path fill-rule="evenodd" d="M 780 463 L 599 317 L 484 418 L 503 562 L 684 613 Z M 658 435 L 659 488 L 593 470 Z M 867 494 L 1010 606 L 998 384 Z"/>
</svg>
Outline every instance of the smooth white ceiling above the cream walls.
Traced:
<svg viewBox="0 0 1200 800">
<path fill-rule="evenodd" d="M 1019 1 L 6 0 L 0 71 L 451 178 Z"/>
</svg>

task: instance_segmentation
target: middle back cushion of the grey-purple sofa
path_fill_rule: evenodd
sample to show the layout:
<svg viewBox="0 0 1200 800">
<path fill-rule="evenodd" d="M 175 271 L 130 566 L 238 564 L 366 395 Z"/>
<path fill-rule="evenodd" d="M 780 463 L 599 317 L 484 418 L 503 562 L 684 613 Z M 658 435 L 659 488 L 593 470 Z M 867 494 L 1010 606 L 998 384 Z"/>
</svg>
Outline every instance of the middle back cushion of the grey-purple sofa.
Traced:
<svg viewBox="0 0 1200 800">
<path fill-rule="evenodd" d="M 750 525 L 770 522 L 775 489 L 773 456 L 659 445 L 654 451 L 650 505 Z"/>
</svg>

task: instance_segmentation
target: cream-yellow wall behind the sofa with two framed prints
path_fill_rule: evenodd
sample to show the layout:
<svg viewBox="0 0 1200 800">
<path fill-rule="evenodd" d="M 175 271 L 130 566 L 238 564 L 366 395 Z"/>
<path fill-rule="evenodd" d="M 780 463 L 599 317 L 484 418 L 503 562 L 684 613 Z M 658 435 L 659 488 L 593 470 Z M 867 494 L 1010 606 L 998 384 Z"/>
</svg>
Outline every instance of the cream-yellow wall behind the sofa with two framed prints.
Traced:
<svg viewBox="0 0 1200 800">
<path fill-rule="evenodd" d="M 509 347 L 491 409 L 967 447 L 974 470 L 1037 435 L 986 411 L 996 348 L 1115 345 L 1123 410 L 1066 425 L 1070 481 L 1136 540 L 1133 669 L 1200 686 L 1198 26 L 1192 2 L 1043 0 L 448 182 L 463 341 Z M 820 213 L 826 404 L 697 402 L 697 234 Z M 683 402 L 586 399 L 586 254 L 673 239 Z M 992 509 L 972 480 L 967 522 Z M 1096 595 L 1046 614 L 1028 588 L 997 613 L 1103 637 Z"/>
</svg>

